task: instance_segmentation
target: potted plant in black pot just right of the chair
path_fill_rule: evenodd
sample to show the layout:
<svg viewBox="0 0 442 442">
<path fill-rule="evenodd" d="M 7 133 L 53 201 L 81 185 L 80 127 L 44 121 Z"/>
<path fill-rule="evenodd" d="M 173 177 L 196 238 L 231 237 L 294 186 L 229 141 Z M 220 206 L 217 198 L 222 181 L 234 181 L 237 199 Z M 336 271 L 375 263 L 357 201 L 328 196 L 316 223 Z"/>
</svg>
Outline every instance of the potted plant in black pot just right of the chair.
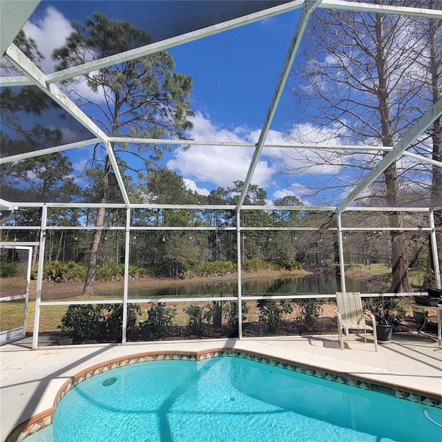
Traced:
<svg viewBox="0 0 442 442">
<path fill-rule="evenodd" d="M 389 344 L 392 342 L 393 327 L 401 325 L 401 320 L 394 311 L 398 307 L 395 298 L 370 298 L 365 303 L 365 308 L 372 311 L 376 318 L 376 334 L 378 343 Z"/>
</svg>

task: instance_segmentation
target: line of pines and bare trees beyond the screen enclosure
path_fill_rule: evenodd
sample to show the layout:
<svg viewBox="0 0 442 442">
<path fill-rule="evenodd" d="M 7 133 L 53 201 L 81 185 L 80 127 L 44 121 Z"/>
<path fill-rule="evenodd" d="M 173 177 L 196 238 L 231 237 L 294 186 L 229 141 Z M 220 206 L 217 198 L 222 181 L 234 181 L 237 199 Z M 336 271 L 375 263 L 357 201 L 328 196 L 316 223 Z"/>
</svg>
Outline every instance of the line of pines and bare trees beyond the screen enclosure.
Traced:
<svg viewBox="0 0 442 442">
<path fill-rule="evenodd" d="M 419 6 L 419 2 L 404 0 L 403 6 Z M 398 5 L 397 1 L 394 4 Z M 434 1 L 429 8 L 436 8 Z M 410 129 L 425 108 L 441 97 L 441 23 L 434 19 L 400 17 L 376 13 L 321 10 L 315 13 L 315 26 L 309 28 L 300 64 L 293 74 L 302 87 L 294 88 L 297 113 L 311 117 L 320 128 L 329 129 L 327 140 L 338 137 L 344 144 L 377 144 L 392 146 Z M 73 32 L 52 58 L 57 69 L 76 66 L 90 59 L 113 55 L 124 50 L 149 44 L 151 37 L 127 21 L 111 20 L 102 13 L 86 17 L 84 24 L 73 23 Z M 15 43 L 37 64 L 41 53 L 32 39 L 23 33 Z M 94 73 L 82 74 L 64 82 L 65 93 L 80 108 L 92 110 L 90 115 L 100 128 L 114 136 L 182 138 L 191 128 L 192 79 L 175 72 L 168 52 L 160 51 Z M 88 99 L 84 88 L 99 99 Z M 2 88 L 2 150 L 6 153 L 37 150 L 57 145 L 62 134 L 52 125 L 43 127 L 25 125 L 17 115 L 40 115 L 57 106 L 37 88 Z M 32 119 L 31 119 L 32 121 Z M 425 136 L 412 149 L 421 155 L 431 155 L 441 161 L 442 123 L 436 119 Z M 11 134 L 14 134 L 12 136 Z M 317 134 L 316 134 L 317 135 Z M 305 134 L 296 140 L 309 141 Z M 182 177 L 159 166 L 164 144 L 111 143 L 111 150 L 119 162 L 118 173 L 126 186 L 131 202 L 158 204 L 236 204 L 242 182 L 234 182 L 227 189 L 218 188 L 209 195 L 199 195 L 186 189 Z M 285 155 L 291 155 L 285 151 Z M 282 157 L 281 170 L 296 176 L 309 168 L 330 164 L 338 166 L 336 175 L 329 177 L 331 187 L 345 191 L 360 180 L 367 164 L 375 164 L 388 150 L 371 154 L 364 151 L 349 154 L 309 155 L 309 166 L 298 162 L 294 167 L 288 157 Z M 354 181 L 343 182 L 340 171 L 352 167 Z M 109 204 L 123 202 L 111 157 L 102 144 L 97 144 L 84 167 L 86 186 L 80 189 L 73 178 L 73 164 L 61 153 L 1 165 L 3 198 L 11 201 L 87 201 Z M 137 177 L 136 180 L 133 178 Z M 136 184 L 135 184 L 136 181 Z M 433 164 L 397 160 L 391 164 L 356 202 L 360 205 L 402 206 L 421 203 L 441 204 L 442 169 Z M 317 198 L 325 189 L 311 189 Z M 323 198 L 331 198 L 326 195 Z M 264 189 L 249 186 L 244 204 L 263 205 L 267 202 Z M 275 206 L 300 206 L 296 197 L 288 196 L 273 202 Z M 327 204 L 327 200 L 324 200 Z M 441 211 L 435 211 L 436 226 L 442 224 Z M 124 211 L 117 209 L 51 209 L 48 220 L 52 225 L 93 225 L 88 233 L 50 231 L 48 260 L 60 257 L 81 260 L 88 265 L 84 294 L 93 293 L 95 269 L 99 263 L 124 259 L 123 231 L 110 227 L 122 225 Z M 347 220 L 357 215 L 345 214 Z M 39 225 L 41 211 L 21 209 L 17 225 Z M 349 260 L 365 262 L 382 259 L 392 267 L 393 282 L 390 291 L 410 291 L 408 269 L 422 257 L 426 267 L 432 268 L 431 247 L 427 236 L 416 236 L 401 231 L 407 223 L 424 225 L 419 215 L 392 211 L 385 215 L 371 213 L 363 222 L 369 227 L 385 225 L 393 229 L 385 236 L 352 233 L 356 242 L 346 244 Z M 385 224 L 386 222 L 386 224 Z M 182 273 L 185 262 L 193 260 L 236 260 L 235 233 L 225 230 L 235 227 L 233 211 L 151 210 L 133 211 L 133 225 L 155 227 L 216 227 L 210 232 L 167 231 L 133 233 L 131 261 L 149 265 L 167 262 L 169 273 Z M 370 224 L 371 223 L 371 224 Z M 414 223 L 414 224 L 413 224 Z M 306 231 L 246 231 L 242 233 L 242 260 L 258 258 L 282 262 L 301 262 L 324 265 L 336 262 L 336 236 L 327 231 L 336 227 L 336 218 L 328 213 L 304 211 L 242 211 L 242 227 L 316 227 Z M 109 227 L 109 229 L 107 229 Z M 223 230 L 224 229 L 224 230 Z M 2 233 L 2 236 L 7 233 Z M 30 233 L 17 231 L 19 236 Z M 31 233 L 33 240 L 38 231 Z M 439 254 L 441 236 L 438 237 Z M 426 242 L 425 245 L 423 242 Z M 430 253 L 425 253 L 426 250 Z M 361 258 L 362 257 L 362 258 Z M 37 248 L 34 259 L 37 259 Z M 441 261 L 441 260 L 440 260 Z"/>
</svg>

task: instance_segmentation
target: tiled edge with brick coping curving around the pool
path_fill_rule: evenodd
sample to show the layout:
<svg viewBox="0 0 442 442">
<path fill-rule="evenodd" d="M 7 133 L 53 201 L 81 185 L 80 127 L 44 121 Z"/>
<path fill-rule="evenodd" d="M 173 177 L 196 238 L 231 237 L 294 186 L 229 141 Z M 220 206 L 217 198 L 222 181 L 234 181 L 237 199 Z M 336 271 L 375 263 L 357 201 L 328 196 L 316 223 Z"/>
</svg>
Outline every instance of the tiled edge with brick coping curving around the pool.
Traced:
<svg viewBox="0 0 442 442">
<path fill-rule="evenodd" d="M 309 376 L 316 376 L 318 378 L 324 378 L 328 381 L 337 383 L 343 383 L 358 387 L 363 390 L 371 390 L 375 392 L 381 392 L 389 394 L 395 398 L 400 398 L 405 401 L 411 401 L 414 403 L 421 403 L 428 407 L 442 408 L 442 395 L 437 395 L 432 392 L 426 392 L 423 390 L 405 389 L 402 386 L 394 385 L 393 383 L 385 383 L 381 381 L 373 381 L 372 379 L 354 375 L 347 372 L 336 372 L 332 370 L 326 370 L 316 365 L 309 365 L 305 363 L 298 363 L 288 358 L 278 358 L 276 356 L 269 356 L 269 354 L 262 352 L 253 352 L 251 350 L 234 349 L 227 347 L 219 347 L 213 349 L 204 349 L 200 352 L 180 351 L 180 350 L 164 350 L 157 352 L 142 352 L 135 353 L 128 356 L 120 356 L 119 358 L 113 358 L 103 363 L 92 365 L 86 369 L 81 370 L 77 374 L 68 378 L 68 380 L 59 388 L 55 395 L 54 403 L 48 410 L 32 416 L 30 419 L 23 421 L 8 435 L 5 442 L 21 442 L 30 434 L 42 430 L 48 425 L 52 424 L 52 417 L 61 398 L 75 385 L 86 381 L 86 379 L 107 372 L 110 369 L 117 367 L 123 367 L 124 365 L 131 365 L 141 362 L 152 361 L 204 361 L 210 358 L 219 357 L 238 357 L 248 359 L 250 361 L 256 361 L 259 363 L 265 363 L 268 365 L 274 365 L 290 371 L 307 374 Z"/>
</svg>

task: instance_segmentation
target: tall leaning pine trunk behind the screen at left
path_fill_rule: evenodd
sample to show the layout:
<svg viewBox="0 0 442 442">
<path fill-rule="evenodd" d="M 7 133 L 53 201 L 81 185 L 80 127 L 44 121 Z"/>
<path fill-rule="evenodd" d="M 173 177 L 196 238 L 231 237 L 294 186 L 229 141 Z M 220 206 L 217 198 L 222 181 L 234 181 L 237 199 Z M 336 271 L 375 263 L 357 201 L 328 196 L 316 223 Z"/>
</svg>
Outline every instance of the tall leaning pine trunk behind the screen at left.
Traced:
<svg viewBox="0 0 442 442">
<path fill-rule="evenodd" d="M 101 204 L 106 204 L 108 202 L 108 189 L 109 189 L 109 173 L 111 172 L 111 159 L 106 157 L 106 165 L 104 166 L 104 177 L 103 177 L 103 193 L 100 200 Z M 100 206 L 97 210 L 97 219 L 95 220 L 95 227 L 103 227 L 104 225 L 104 214 L 106 209 Z M 86 273 L 86 280 L 84 281 L 83 296 L 90 296 L 94 293 L 94 283 L 95 283 L 95 269 L 97 267 L 97 257 L 99 241 L 102 238 L 102 229 L 97 229 L 94 231 L 92 238 L 92 245 L 90 247 L 90 258 L 88 271 Z"/>
</svg>

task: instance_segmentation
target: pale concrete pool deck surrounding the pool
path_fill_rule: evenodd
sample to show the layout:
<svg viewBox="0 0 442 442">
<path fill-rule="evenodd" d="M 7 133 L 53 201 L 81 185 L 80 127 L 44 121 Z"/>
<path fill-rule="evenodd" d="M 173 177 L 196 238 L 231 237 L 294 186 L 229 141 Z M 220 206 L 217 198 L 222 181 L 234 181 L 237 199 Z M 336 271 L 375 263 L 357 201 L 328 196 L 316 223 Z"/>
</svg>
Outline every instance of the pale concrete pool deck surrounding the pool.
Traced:
<svg viewBox="0 0 442 442">
<path fill-rule="evenodd" d="M 300 365 L 345 372 L 404 389 L 442 395 L 442 347 L 416 333 L 394 334 L 392 343 L 379 345 L 350 335 L 341 350 L 337 336 L 244 338 L 242 340 L 168 341 L 130 345 L 44 347 L 32 351 L 30 338 L 0 347 L 1 441 L 21 422 L 53 405 L 64 383 L 83 369 L 114 358 L 143 352 L 201 352 L 235 349 L 285 358 Z"/>
</svg>

